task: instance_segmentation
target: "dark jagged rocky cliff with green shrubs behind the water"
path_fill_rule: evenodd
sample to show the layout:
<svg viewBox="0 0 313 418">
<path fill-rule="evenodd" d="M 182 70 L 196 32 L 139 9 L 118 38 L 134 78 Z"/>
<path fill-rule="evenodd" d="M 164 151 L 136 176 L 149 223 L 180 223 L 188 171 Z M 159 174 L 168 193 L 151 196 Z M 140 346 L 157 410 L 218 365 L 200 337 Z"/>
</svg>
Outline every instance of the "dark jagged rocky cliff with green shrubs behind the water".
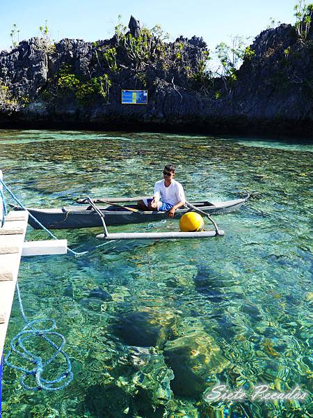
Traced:
<svg viewBox="0 0 313 418">
<path fill-rule="evenodd" d="M 230 86 L 206 72 L 202 38 L 166 42 L 134 18 L 110 40 L 31 38 L 0 53 L 0 127 L 312 136 L 313 31 L 282 24 L 250 50 Z M 148 103 L 121 104 L 121 89 L 147 89 Z"/>
</svg>

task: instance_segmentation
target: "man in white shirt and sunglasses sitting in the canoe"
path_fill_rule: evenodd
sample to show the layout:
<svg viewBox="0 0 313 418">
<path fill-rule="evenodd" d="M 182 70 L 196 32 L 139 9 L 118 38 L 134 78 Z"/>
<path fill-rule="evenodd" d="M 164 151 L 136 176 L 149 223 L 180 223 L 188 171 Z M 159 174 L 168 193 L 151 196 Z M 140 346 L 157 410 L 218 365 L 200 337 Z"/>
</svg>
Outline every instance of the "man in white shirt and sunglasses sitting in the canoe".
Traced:
<svg viewBox="0 0 313 418">
<path fill-rule="evenodd" d="M 174 180 L 176 167 L 168 164 L 163 170 L 163 180 L 154 185 L 154 194 L 150 199 L 138 201 L 142 210 L 168 210 L 168 217 L 174 217 L 175 211 L 185 204 L 184 189 Z"/>
</svg>

